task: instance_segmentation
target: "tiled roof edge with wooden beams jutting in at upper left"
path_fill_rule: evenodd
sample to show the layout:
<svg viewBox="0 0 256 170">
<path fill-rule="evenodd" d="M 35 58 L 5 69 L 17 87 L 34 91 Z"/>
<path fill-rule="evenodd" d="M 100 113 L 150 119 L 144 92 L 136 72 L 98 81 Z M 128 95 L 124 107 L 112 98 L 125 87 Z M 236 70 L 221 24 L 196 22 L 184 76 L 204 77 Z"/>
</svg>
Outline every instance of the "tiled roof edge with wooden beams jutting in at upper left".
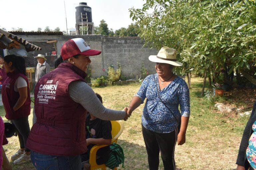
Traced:
<svg viewBox="0 0 256 170">
<path fill-rule="evenodd" d="M 13 49 L 20 48 L 20 44 L 25 46 L 27 52 L 41 50 L 42 48 L 32 43 L 27 42 L 25 39 L 15 36 L 9 32 L 0 29 L 0 48 Z"/>
</svg>

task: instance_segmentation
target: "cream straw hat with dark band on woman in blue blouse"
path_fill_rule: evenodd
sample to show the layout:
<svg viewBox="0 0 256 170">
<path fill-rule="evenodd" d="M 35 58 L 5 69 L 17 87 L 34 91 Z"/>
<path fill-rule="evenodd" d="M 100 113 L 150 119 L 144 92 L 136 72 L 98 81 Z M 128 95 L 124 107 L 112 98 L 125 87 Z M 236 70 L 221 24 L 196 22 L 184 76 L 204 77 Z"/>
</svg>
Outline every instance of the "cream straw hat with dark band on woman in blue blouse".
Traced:
<svg viewBox="0 0 256 170">
<path fill-rule="evenodd" d="M 157 55 L 150 55 L 148 59 L 152 62 L 167 63 L 175 66 L 182 66 L 182 63 L 176 59 L 176 49 L 164 46 L 160 49 Z"/>
</svg>

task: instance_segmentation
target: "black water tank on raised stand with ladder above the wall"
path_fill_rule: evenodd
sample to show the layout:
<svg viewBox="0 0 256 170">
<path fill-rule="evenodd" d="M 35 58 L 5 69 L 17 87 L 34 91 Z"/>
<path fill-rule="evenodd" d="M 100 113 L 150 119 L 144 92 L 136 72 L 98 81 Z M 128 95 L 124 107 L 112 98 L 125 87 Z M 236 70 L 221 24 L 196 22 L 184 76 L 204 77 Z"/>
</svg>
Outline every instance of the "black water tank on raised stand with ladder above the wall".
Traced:
<svg viewBox="0 0 256 170">
<path fill-rule="evenodd" d="M 91 35 L 93 32 L 92 8 L 86 2 L 80 2 L 75 7 L 76 35 Z"/>
</svg>

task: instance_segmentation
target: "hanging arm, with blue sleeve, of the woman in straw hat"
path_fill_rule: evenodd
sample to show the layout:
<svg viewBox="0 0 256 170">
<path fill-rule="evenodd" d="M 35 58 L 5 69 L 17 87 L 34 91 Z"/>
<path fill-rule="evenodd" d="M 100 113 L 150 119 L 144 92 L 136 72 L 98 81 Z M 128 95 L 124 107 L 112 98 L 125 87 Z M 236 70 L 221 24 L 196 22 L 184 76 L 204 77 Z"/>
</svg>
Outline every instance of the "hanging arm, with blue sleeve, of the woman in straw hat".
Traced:
<svg viewBox="0 0 256 170">
<path fill-rule="evenodd" d="M 181 124 L 180 132 L 177 136 L 177 142 L 178 145 L 183 145 L 186 142 L 186 131 L 190 116 L 189 89 L 185 81 L 181 84 L 181 88 L 179 89 L 178 94 L 178 100 L 181 110 Z"/>
</svg>

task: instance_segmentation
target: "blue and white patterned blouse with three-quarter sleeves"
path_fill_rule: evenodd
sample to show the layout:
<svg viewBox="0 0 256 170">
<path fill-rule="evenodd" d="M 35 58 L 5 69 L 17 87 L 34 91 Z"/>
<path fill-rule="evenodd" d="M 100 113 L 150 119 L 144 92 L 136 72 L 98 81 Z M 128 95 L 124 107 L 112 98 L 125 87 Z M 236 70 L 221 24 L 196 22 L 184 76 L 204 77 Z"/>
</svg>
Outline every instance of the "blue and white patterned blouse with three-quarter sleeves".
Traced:
<svg viewBox="0 0 256 170">
<path fill-rule="evenodd" d="M 142 103 L 147 98 L 142 114 L 142 125 L 146 129 L 157 133 L 169 133 L 178 127 L 178 122 L 160 101 L 154 78 L 157 84 L 159 84 L 158 74 L 149 75 L 144 79 L 139 91 L 135 95 L 141 98 Z M 159 85 L 157 88 L 162 101 L 169 107 L 177 120 L 181 116 L 189 117 L 189 89 L 182 78 L 176 77 L 161 91 Z M 179 111 L 179 105 L 181 113 Z"/>
</svg>

